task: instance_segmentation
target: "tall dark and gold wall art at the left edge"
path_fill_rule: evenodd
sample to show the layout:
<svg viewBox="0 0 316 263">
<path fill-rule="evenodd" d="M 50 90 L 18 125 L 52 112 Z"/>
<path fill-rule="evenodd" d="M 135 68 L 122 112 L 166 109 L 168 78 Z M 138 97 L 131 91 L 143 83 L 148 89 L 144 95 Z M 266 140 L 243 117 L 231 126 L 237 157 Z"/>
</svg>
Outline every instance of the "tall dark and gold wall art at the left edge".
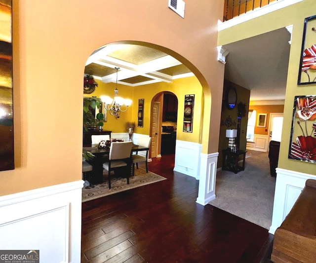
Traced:
<svg viewBox="0 0 316 263">
<path fill-rule="evenodd" d="M 0 171 L 14 169 L 12 1 L 0 0 Z"/>
</svg>

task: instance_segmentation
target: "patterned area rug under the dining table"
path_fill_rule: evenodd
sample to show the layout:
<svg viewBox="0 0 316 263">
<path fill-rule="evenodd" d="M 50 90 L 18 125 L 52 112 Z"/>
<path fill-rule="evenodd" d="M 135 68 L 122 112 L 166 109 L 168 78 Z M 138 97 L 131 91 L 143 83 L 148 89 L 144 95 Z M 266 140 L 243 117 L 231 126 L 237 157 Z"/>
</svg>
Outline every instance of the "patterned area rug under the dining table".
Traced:
<svg viewBox="0 0 316 263">
<path fill-rule="evenodd" d="M 104 183 L 99 185 L 94 185 L 92 188 L 83 187 L 82 188 L 82 203 L 97 199 L 106 195 L 126 191 L 132 188 L 142 187 L 145 185 L 157 183 L 166 180 L 166 178 L 154 174 L 150 171 L 146 173 L 146 170 L 139 167 L 136 169 L 133 177 L 129 178 L 129 185 L 127 185 L 126 178 L 111 178 L 111 189 L 109 189 L 109 183 L 107 178 L 104 178 Z"/>
</svg>

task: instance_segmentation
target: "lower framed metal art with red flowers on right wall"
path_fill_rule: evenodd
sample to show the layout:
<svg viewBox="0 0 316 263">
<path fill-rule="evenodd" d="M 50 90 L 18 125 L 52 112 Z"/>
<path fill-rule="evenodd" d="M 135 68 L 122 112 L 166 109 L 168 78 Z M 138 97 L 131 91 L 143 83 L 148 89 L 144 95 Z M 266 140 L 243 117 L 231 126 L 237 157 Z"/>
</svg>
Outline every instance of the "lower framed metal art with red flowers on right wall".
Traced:
<svg viewBox="0 0 316 263">
<path fill-rule="evenodd" d="M 294 99 L 288 158 L 316 163 L 316 95 Z"/>
</svg>

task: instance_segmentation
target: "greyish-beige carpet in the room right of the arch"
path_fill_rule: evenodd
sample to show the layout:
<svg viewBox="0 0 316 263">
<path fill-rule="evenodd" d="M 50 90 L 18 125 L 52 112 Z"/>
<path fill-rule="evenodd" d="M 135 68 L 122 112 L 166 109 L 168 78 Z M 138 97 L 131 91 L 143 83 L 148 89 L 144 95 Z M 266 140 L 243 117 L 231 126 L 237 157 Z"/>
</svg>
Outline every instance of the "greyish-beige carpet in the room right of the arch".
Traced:
<svg viewBox="0 0 316 263">
<path fill-rule="evenodd" d="M 269 229 L 276 178 L 270 175 L 268 152 L 248 150 L 245 170 L 218 171 L 215 200 L 209 204 Z"/>
</svg>

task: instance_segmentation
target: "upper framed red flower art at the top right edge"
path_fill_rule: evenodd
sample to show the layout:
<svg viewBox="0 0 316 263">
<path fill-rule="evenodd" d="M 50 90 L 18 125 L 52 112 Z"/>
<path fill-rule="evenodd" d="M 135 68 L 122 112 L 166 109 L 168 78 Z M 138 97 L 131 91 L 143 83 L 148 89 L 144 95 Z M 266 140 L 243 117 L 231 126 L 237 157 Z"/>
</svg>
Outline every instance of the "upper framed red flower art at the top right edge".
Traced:
<svg viewBox="0 0 316 263">
<path fill-rule="evenodd" d="M 298 85 L 316 83 L 316 15 L 305 18 Z"/>
</svg>

